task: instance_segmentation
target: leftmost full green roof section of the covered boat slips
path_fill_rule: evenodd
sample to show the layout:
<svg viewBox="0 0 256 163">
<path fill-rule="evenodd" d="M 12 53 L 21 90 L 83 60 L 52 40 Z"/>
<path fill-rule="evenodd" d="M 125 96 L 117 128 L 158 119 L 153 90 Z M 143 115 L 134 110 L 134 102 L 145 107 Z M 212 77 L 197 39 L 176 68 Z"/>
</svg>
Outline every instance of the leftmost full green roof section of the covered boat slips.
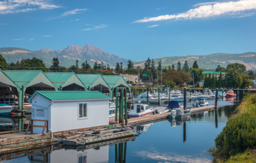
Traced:
<svg viewBox="0 0 256 163">
<path fill-rule="evenodd" d="M 14 82 L 33 80 L 41 70 L 6 70 L 4 73 Z M 22 85 L 22 84 L 21 84 Z"/>
</svg>

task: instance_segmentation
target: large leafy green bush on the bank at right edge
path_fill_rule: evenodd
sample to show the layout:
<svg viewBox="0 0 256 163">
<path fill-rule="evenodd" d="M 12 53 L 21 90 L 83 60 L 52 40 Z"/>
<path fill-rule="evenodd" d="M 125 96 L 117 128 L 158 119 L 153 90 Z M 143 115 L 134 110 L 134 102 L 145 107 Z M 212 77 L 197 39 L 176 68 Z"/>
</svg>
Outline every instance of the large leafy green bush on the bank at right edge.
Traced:
<svg viewBox="0 0 256 163">
<path fill-rule="evenodd" d="M 256 145 L 256 94 L 247 95 L 215 139 L 213 156 L 228 159 Z"/>
</svg>

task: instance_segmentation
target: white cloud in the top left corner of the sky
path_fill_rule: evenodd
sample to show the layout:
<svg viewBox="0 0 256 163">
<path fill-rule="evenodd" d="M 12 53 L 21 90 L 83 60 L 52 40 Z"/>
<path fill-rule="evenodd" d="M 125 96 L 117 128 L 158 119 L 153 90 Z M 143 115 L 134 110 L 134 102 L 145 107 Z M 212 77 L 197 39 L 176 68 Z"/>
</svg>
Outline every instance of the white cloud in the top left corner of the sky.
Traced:
<svg viewBox="0 0 256 163">
<path fill-rule="evenodd" d="M 50 10 L 59 7 L 43 0 L 5 0 L 0 1 L 0 14 L 28 12 L 37 9 Z"/>
</svg>

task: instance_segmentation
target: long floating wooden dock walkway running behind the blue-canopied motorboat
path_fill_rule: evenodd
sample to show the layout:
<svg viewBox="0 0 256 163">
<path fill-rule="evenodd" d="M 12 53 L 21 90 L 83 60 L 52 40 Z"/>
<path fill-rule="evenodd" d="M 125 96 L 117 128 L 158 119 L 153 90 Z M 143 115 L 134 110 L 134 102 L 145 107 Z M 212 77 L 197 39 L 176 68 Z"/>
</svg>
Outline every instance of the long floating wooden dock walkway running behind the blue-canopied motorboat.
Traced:
<svg viewBox="0 0 256 163">
<path fill-rule="evenodd" d="M 212 111 L 214 110 L 214 108 L 215 106 L 203 106 L 199 108 L 188 108 L 188 109 L 191 109 L 191 114 L 195 114 L 195 113 L 201 113 L 203 111 Z M 220 106 L 218 106 L 218 108 L 220 108 Z M 154 114 L 151 116 L 144 116 L 144 117 L 138 117 L 138 118 L 129 118 L 127 125 L 136 126 L 141 123 L 149 123 L 149 122 L 166 120 L 169 114 L 170 112 Z"/>
</svg>

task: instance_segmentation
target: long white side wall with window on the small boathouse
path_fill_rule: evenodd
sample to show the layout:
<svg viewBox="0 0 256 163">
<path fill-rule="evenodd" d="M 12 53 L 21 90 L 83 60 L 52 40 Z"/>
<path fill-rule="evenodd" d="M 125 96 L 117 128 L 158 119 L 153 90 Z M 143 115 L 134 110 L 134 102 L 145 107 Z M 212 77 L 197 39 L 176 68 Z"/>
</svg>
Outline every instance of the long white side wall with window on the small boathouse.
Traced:
<svg viewBox="0 0 256 163">
<path fill-rule="evenodd" d="M 78 118 L 79 102 L 55 102 L 51 106 L 51 130 L 73 130 L 109 124 L 109 101 L 85 101 L 87 118 Z"/>
</svg>

